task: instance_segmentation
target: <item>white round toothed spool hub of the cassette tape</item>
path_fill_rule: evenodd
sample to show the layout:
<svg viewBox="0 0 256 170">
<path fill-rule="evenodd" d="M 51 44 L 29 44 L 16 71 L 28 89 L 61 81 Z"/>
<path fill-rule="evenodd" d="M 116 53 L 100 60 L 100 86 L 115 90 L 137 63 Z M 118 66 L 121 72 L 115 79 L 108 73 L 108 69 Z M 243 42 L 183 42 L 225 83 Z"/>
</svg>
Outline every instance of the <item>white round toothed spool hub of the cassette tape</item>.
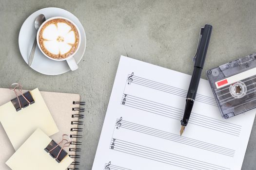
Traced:
<svg viewBox="0 0 256 170">
<path fill-rule="evenodd" d="M 240 98 L 242 98 L 246 95 L 247 88 L 246 88 L 246 85 L 243 82 L 239 81 L 239 82 L 236 82 L 233 85 L 230 85 L 229 86 L 229 91 L 230 91 L 230 94 L 234 98 L 240 99 Z"/>
</svg>

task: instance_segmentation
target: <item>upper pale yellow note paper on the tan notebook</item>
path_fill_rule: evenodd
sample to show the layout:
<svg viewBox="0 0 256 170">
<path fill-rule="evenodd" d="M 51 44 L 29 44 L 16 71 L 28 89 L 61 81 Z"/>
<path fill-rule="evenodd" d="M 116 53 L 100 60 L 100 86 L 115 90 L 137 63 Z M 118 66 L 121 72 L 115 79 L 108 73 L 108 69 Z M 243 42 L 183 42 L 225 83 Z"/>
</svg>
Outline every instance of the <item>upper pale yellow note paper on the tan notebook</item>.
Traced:
<svg viewBox="0 0 256 170">
<path fill-rule="evenodd" d="M 17 150 L 37 128 L 47 136 L 59 132 L 43 98 L 36 88 L 30 91 L 35 103 L 16 111 L 12 102 L 0 106 L 0 122 Z"/>
</svg>

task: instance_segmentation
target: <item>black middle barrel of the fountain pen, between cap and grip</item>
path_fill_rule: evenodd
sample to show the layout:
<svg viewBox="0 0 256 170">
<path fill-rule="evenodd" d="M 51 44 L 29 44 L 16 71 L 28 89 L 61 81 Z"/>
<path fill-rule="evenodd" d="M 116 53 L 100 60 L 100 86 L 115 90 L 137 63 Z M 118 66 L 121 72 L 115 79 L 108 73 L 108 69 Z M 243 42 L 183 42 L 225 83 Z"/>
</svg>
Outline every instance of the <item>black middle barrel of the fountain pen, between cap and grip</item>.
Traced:
<svg viewBox="0 0 256 170">
<path fill-rule="evenodd" d="M 190 98 L 192 100 L 196 99 L 197 96 L 197 88 L 199 85 L 200 77 L 202 73 L 202 68 L 194 67 L 194 71 L 191 77 L 191 81 L 188 88 L 187 99 Z"/>
</svg>

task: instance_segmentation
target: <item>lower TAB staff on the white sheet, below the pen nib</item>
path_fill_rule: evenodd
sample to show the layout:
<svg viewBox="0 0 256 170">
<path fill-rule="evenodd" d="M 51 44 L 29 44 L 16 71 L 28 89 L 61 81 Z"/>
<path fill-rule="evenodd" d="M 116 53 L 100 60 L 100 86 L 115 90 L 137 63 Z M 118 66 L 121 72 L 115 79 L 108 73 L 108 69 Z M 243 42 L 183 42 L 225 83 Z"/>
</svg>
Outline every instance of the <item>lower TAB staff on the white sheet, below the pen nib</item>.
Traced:
<svg viewBox="0 0 256 170">
<path fill-rule="evenodd" d="M 230 170 L 226 167 L 160 151 L 117 138 L 112 138 L 109 149 L 184 168 L 185 170 Z"/>
</svg>

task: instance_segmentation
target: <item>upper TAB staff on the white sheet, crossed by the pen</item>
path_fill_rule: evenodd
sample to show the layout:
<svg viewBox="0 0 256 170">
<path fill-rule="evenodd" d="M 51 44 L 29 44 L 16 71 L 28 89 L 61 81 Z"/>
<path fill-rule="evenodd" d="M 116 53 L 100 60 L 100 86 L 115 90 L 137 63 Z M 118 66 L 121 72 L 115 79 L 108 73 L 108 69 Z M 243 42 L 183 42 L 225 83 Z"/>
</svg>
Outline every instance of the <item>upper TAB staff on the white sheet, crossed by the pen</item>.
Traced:
<svg viewBox="0 0 256 170">
<path fill-rule="evenodd" d="M 134 82 L 133 82 L 134 83 Z M 160 116 L 168 117 L 171 119 L 177 119 L 180 121 L 183 116 L 183 110 L 172 107 L 166 104 L 146 100 L 129 94 L 123 94 L 121 104 L 136 109 L 140 109 L 149 113 L 157 114 Z M 225 134 L 239 136 L 241 132 L 241 126 L 229 123 L 223 120 L 217 120 L 214 118 L 206 117 L 197 113 L 193 113 L 190 116 L 190 124 L 201 126 L 204 128 L 212 129 Z"/>
</svg>

